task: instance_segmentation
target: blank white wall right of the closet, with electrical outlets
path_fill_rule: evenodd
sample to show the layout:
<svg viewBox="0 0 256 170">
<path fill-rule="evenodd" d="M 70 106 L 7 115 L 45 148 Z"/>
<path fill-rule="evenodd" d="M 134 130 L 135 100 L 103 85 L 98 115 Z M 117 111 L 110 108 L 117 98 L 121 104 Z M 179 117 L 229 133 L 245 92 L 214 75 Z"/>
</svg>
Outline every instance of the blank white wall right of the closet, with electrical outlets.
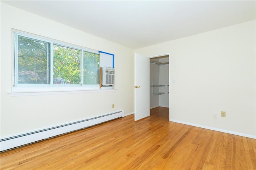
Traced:
<svg viewBox="0 0 256 170">
<path fill-rule="evenodd" d="M 254 20 L 136 50 L 170 53 L 172 121 L 256 138 L 255 32 Z"/>
</svg>

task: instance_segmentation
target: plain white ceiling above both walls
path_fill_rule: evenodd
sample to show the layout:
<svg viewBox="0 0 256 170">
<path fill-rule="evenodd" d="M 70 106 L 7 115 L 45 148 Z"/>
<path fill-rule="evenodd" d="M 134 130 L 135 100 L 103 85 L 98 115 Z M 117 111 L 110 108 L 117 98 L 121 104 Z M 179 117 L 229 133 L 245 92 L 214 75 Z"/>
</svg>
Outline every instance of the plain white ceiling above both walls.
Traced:
<svg viewBox="0 0 256 170">
<path fill-rule="evenodd" d="M 256 19 L 255 0 L 2 2 L 131 49 Z"/>
</svg>

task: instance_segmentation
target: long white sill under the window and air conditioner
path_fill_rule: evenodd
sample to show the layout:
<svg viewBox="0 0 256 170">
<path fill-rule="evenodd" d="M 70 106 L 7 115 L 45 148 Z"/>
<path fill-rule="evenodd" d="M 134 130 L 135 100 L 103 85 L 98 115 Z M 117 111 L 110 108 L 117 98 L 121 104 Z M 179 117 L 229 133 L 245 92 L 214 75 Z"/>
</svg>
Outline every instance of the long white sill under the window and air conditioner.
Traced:
<svg viewBox="0 0 256 170">
<path fill-rule="evenodd" d="M 112 92 L 113 87 L 98 86 L 79 86 L 79 87 L 14 87 L 7 92 L 10 96 L 35 96 L 35 95 L 52 95 L 52 94 L 73 94 L 73 93 L 94 93 L 94 92 Z"/>
</svg>

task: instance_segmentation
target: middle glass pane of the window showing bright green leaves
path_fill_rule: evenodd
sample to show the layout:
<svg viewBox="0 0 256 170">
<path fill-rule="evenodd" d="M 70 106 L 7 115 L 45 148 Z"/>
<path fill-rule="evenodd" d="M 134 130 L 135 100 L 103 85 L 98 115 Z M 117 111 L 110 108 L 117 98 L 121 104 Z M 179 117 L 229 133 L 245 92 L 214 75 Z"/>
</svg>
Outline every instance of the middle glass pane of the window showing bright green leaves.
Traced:
<svg viewBox="0 0 256 170">
<path fill-rule="evenodd" d="M 81 83 L 81 50 L 54 45 L 53 83 L 80 84 Z"/>
</svg>

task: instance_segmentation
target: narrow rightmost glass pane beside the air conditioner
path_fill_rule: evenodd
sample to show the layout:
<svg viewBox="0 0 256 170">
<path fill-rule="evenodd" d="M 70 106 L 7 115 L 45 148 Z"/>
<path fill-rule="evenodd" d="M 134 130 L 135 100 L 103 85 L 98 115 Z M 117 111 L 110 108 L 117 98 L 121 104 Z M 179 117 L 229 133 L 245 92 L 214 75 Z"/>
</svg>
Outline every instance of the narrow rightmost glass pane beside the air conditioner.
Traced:
<svg viewBox="0 0 256 170">
<path fill-rule="evenodd" d="M 84 51 L 84 84 L 100 84 L 100 55 Z"/>
</svg>

